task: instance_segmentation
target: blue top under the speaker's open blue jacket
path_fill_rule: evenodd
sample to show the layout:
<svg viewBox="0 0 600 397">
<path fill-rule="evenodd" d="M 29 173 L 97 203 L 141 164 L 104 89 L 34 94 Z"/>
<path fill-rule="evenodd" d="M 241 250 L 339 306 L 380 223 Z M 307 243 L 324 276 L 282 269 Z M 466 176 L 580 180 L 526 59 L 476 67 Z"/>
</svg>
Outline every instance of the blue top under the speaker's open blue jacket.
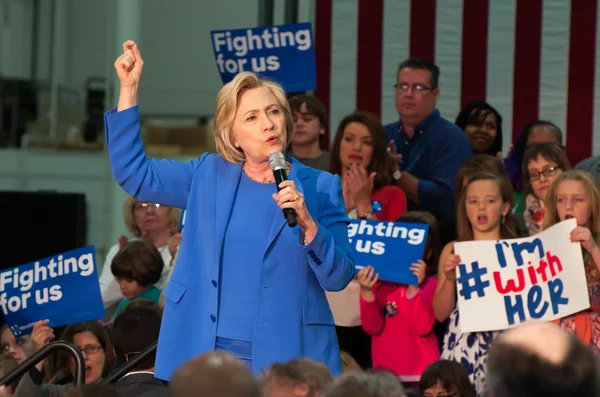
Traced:
<svg viewBox="0 0 600 397">
<path fill-rule="evenodd" d="M 274 183 L 242 174 L 223 240 L 217 337 L 252 341 L 258 307 L 261 264 L 271 228 L 281 209 L 271 195 Z M 283 214 L 280 214 L 283 217 Z"/>
</svg>

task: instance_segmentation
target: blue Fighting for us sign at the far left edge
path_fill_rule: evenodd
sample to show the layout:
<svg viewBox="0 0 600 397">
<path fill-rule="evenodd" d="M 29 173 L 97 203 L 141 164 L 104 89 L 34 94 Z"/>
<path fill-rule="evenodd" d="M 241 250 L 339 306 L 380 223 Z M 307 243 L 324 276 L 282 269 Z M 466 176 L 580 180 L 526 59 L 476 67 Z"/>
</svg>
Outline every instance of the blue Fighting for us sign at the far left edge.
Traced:
<svg viewBox="0 0 600 397">
<path fill-rule="evenodd" d="M 94 246 L 0 272 L 0 308 L 15 337 L 40 320 L 59 327 L 104 318 Z"/>
</svg>

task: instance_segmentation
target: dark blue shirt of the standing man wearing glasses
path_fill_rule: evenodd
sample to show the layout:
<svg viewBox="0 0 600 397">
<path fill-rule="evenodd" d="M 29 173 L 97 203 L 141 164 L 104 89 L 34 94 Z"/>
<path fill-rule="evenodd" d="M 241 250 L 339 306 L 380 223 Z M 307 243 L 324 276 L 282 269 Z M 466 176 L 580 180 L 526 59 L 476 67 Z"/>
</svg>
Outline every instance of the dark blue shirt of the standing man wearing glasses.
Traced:
<svg viewBox="0 0 600 397">
<path fill-rule="evenodd" d="M 417 124 L 412 138 L 401 120 L 386 125 L 385 136 L 402 155 L 401 169 L 419 179 L 420 204 L 407 197 L 408 210 L 428 211 L 438 220 L 456 216 L 454 178 L 473 155 L 465 133 L 436 109 Z"/>
</svg>

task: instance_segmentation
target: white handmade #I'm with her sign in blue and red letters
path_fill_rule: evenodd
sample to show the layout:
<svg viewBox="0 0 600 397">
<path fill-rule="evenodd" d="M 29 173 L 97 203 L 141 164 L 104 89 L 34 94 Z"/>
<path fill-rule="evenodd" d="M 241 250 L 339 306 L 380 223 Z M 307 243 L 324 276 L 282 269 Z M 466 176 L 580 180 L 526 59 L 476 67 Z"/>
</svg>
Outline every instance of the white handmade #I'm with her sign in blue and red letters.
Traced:
<svg viewBox="0 0 600 397">
<path fill-rule="evenodd" d="M 575 219 L 535 236 L 454 245 L 462 332 L 495 331 L 551 321 L 590 307 Z"/>
</svg>

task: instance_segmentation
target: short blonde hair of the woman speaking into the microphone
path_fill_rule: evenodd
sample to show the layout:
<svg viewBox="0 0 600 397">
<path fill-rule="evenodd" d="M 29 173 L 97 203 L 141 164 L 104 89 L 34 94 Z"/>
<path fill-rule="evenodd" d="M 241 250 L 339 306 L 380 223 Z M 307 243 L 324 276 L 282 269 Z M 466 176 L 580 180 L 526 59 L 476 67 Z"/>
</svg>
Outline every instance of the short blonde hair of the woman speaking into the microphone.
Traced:
<svg viewBox="0 0 600 397">
<path fill-rule="evenodd" d="M 233 131 L 239 100 L 244 92 L 260 87 L 270 89 L 277 98 L 277 104 L 281 107 L 285 117 L 285 131 L 283 133 L 285 141 L 288 141 L 287 135 L 292 130 L 293 122 L 290 105 L 283 88 L 273 81 L 261 79 L 255 73 L 241 72 L 219 91 L 213 123 L 217 154 L 231 163 L 239 164 L 246 158 L 243 150 L 235 146 L 235 133 Z"/>
</svg>

